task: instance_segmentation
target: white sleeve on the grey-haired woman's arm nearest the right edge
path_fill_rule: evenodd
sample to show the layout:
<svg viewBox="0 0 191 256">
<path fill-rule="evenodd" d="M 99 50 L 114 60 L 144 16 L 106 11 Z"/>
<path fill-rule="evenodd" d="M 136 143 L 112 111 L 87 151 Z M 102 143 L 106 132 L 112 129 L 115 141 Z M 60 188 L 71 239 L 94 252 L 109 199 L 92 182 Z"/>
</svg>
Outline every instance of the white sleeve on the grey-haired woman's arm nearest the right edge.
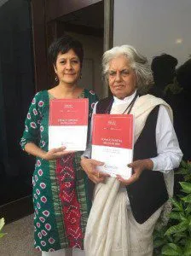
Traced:
<svg viewBox="0 0 191 256">
<path fill-rule="evenodd" d="M 156 144 L 158 155 L 153 160 L 153 171 L 168 173 L 180 165 L 182 151 L 177 135 L 165 106 L 160 105 L 156 125 Z"/>
</svg>

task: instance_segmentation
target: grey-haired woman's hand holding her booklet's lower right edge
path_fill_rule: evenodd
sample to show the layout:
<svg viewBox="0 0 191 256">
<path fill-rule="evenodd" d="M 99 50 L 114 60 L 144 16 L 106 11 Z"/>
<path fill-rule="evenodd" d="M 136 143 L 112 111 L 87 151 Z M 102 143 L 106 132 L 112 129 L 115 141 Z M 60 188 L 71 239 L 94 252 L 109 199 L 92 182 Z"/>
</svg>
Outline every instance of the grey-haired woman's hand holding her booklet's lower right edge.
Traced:
<svg viewBox="0 0 191 256">
<path fill-rule="evenodd" d="M 125 186 L 135 183 L 142 174 L 143 170 L 153 170 L 153 161 L 150 159 L 136 160 L 128 165 L 133 169 L 133 175 L 129 179 L 124 179 L 117 175 L 118 180 Z"/>
</svg>

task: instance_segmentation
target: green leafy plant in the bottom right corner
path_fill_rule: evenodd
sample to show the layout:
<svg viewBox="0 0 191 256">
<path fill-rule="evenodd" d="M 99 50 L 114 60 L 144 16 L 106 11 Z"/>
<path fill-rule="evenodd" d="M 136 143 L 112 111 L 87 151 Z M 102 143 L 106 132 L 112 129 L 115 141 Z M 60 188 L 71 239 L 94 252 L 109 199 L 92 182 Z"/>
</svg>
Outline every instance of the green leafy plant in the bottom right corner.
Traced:
<svg viewBox="0 0 191 256">
<path fill-rule="evenodd" d="M 167 226 L 154 230 L 154 255 L 191 256 L 191 164 L 182 161 L 177 174 L 184 179 L 181 195 L 171 199 Z"/>
</svg>

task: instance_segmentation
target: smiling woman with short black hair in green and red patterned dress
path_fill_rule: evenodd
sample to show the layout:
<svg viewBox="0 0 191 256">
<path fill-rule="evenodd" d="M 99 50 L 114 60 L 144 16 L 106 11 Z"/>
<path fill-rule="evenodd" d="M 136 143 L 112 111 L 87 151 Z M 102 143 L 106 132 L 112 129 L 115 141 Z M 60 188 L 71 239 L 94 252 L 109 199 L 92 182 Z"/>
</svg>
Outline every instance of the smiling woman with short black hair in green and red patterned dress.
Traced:
<svg viewBox="0 0 191 256">
<path fill-rule="evenodd" d="M 82 44 L 70 36 L 58 38 L 50 45 L 49 58 L 57 85 L 34 96 L 20 141 L 23 150 L 37 157 L 32 179 L 34 247 L 43 256 L 84 255 L 78 248 L 84 247 L 91 201 L 88 177 L 79 163 L 82 153 L 67 152 L 65 147 L 48 150 L 49 101 L 88 98 L 89 115 L 97 101 L 93 91 L 78 87 L 83 57 Z M 72 247 L 76 254 L 71 254 Z"/>
</svg>

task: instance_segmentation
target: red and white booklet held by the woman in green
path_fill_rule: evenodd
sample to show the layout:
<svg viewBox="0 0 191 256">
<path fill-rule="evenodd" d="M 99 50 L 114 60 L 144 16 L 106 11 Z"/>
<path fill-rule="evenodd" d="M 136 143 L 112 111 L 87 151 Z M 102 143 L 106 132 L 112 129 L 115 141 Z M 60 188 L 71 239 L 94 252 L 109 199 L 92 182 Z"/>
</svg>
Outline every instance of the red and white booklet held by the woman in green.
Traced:
<svg viewBox="0 0 191 256">
<path fill-rule="evenodd" d="M 84 151 L 88 131 L 88 99 L 53 99 L 49 102 L 49 149 L 67 147 Z"/>
</svg>

